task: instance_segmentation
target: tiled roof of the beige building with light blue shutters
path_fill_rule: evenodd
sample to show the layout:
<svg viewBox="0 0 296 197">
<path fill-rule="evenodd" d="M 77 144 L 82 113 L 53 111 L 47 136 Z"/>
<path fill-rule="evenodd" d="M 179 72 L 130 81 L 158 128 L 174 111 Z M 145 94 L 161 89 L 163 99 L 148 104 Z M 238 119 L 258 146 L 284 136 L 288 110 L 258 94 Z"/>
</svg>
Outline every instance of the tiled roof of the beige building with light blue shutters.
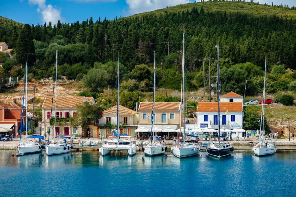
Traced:
<svg viewBox="0 0 296 197">
<path fill-rule="evenodd" d="M 155 110 L 178 110 L 180 102 L 156 102 Z M 141 102 L 139 110 L 152 110 L 152 102 Z"/>
</svg>

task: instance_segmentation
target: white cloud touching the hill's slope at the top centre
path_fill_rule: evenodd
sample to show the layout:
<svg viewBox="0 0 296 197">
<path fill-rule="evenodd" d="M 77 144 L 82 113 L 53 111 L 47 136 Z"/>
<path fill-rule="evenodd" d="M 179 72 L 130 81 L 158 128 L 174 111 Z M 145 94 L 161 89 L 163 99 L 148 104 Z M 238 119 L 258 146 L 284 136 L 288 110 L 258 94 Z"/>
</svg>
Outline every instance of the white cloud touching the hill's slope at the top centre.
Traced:
<svg viewBox="0 0 296 197">
<path fill-rule="evenodd" d="M 190 3 L 189 0 L 126 0 L 128 4 L 128 13 L 137 14 L 140 12 L 148 12 L 156 9 L 165 8 L 167 6 L 175 6 L 179 4 Z"/>
</svg>

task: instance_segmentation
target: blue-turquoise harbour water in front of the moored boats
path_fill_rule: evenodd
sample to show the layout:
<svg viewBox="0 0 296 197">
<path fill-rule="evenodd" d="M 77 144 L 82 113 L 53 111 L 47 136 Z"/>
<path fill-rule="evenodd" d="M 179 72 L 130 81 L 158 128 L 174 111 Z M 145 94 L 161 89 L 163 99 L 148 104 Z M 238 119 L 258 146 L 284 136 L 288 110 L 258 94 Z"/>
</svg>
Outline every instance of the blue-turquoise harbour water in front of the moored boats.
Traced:
<svg viewBox="0 0 296 197">
<path fill-rule="evenodd" d="M 295 196 L 296 153 L 178 159 L 98 151 L 12 157 L 0 151 L 0 196 Z"/>
</svg>

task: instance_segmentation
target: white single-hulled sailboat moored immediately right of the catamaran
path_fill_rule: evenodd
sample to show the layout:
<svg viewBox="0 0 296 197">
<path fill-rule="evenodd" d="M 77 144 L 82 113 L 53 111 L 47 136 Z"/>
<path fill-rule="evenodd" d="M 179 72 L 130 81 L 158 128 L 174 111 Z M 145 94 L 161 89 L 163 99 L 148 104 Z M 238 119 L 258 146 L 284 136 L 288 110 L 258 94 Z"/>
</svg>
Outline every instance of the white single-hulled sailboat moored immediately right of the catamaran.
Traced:
<svg viewBox="0 0 296 197">
<path fill-rule="evenodd" d="M 167 150 L 163 143 L 155 142 L 155 51 L 154 51 L 154 79 L 153 79 L 153 102 L 151 113 L 151 142 L 144 146 L 144 153 L 149 156 L 162 155 Z"/>
</svg>

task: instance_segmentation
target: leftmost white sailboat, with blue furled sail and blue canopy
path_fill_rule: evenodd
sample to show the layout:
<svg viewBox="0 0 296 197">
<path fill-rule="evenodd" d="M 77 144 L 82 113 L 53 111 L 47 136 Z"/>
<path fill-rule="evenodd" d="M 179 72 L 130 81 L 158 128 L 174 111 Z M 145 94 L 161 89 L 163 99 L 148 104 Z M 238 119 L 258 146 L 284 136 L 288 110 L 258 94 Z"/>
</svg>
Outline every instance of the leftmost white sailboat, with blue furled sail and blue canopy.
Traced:
<svg viewBox="0 0 296 197">
<path fill-rule="evenodd" d="M 26 89 L 26 99 L 25 99 L 25 89 Z M 43 145 L 41 145 L 40 141 L 35 142 L 35 141 L 30 141 L 28 142 L 28 138 L 39 138 L 43 139 L 44 136 L 41 135 L 31 135 L 28 137 L 28 58 L 27 58 L 27 63 L 26 63 L 26 68 L 25 68 L 25 77 L 24 77 L 24 92 L 23 92 L 23 98 L 22 98 L 22 111 L 21 111 L 21 124 L 20 124 L 20 141 L 22 137 L 22 122 L 23 122 L 23 115 L 24 115 L 24 101 L 26 101 L 26 142 L 25 143 L 20 143 L 17 146 L 17 150 L 19 153 L 23 154 L 29 154 L 29 153 L 39 153 L 43 149 Z"/>
</svg>

